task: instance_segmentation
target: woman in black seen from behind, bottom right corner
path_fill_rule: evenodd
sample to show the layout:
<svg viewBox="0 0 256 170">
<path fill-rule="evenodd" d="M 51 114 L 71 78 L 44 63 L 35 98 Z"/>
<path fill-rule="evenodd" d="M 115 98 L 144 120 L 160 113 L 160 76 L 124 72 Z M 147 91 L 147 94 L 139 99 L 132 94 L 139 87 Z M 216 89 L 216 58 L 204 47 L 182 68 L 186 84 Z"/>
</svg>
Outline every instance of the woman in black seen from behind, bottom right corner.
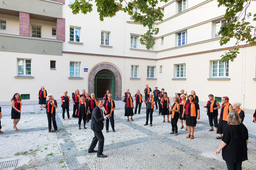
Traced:
<svg viewBox="0 0 256 170">
<path fill-rule="evenodd" d="M 222 158 L 226 161 L 228 170 L 242 169 L 242 162 L 248 160 L 248 130 L 241 123 L 237 111 L 231 110 L 227 118 L 229 125 L 225 128 L 216 154 L 222 149 Z"/>
</svg>

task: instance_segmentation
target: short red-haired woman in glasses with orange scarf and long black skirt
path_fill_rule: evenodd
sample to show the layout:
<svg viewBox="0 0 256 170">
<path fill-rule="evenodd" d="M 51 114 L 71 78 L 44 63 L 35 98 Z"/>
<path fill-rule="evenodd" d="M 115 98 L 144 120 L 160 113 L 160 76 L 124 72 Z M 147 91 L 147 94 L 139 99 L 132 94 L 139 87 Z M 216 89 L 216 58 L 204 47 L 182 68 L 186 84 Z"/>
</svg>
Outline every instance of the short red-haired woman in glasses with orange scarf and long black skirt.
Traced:
<svg viewBox="0 0 256 170">
<path fill-rule="evenodd" d="M 215 139 L 221 139 L 222 134 L 225 130 L 225 127 L 228 125 L 227 117 L 228 113 L 233 110 L 233 106 L 228 102 L 229 98 L 227 96 L 222 97 L 222 105 L 221 105 L 221 113 L 220 117 L 218 118 L 218 130 L 217 133 L 219 136 L 215 137 Z"/>
</svg>

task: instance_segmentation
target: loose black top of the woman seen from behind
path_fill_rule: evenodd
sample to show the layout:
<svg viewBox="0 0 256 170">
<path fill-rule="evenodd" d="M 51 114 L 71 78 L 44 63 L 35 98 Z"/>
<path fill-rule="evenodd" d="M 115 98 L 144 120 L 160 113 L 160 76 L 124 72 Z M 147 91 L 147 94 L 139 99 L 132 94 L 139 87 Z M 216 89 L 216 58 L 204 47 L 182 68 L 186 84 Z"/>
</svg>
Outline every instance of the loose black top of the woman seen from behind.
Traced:
<svg viewBox="0 0 256 170">
<path fill-rule="evenodd" d="M 247 145 L 248 130 L 244 124 L 229 124 L 226 126 L 222 141 L 227 145 L 222 149 L 222 158 L 229 163 L 248 160 Z"/>
</svg>

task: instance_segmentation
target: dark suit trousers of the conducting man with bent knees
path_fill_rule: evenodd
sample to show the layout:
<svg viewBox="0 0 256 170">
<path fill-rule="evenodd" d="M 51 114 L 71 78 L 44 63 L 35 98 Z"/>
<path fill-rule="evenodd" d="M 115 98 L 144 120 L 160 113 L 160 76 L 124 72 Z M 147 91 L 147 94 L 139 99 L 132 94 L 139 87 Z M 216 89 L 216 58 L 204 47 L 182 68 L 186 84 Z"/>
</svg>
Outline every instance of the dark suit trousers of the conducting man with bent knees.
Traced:
<svg viewBox="0 0 256 170">
<path fill-rule="evenodd" d="M 102 134 L 102 131 L 93 131 L 94 132 L 94 137 L 91 141 L 91 146 L 89 147 L 88 151 L 92 151 L 94 150 L 95 146 L 97 145 L 98 141 L 99 141 L 99 144 L 98 144 L 98 153 L 97 155 L 99 154 L 102 154 L 103 152 L 103 147 L 104 147 L 104 136 Z"/>
</svg>

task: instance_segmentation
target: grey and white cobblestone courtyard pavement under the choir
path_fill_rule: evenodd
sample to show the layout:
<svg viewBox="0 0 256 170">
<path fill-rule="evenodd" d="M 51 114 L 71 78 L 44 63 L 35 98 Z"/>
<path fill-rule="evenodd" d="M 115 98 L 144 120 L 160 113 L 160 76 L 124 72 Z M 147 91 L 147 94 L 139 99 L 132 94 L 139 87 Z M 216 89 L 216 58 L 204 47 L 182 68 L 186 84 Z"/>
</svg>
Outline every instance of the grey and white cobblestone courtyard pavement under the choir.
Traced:
<svg viewBox="0 0 256 170">
<path fill-rule="evenodd" d="M 43 110 L 44 111 L 44 110 Z M 143 126 L 146 121 L 145 108 L 134 121 L 126 121 L 124 109 L 115 110 L 115 133 L 109 125 L 105 126 L 104 154 L 107 158 L 98 158 L 88 153 L 88 147 L 94 137 L 91 123 L 87 129 L 78 130 L 78 119 L 62 120 L 62 112 L 57 111 L 58 133 L 48 131 L 45 111 L 22 113 L 17 132 L 13 131 L 11 115 L 3 115 L 0 135 L 1 162 L 19 159 L 16 169 L 227 169 L 221 155 L 215 150 L 221 140 L 214 139 L 216 131 L 209 132 L 209 124 L 198 121 L 194 139 L 186 139 L 187 131 L 180 129 L 178 136 L 169 134 L 171 124 L 162 123 L 163 116 L 158 110 L 153 113 L 153 126 Z M 72 111 L 70 110 L 70 113 Z M 66 115 L 65 115 L 66 116 Z M 171 121 L 171 118 L 170 118 Z M 53 128 L 53 127 L 52 127 Z M 256 169 L 256 135 L 249 134 L 248 159 L 243 169 Z M 97 149 L 96 146 L 95 149 Z M 10 168 L 13 169 L 13 168 Z"/>
</svg>

